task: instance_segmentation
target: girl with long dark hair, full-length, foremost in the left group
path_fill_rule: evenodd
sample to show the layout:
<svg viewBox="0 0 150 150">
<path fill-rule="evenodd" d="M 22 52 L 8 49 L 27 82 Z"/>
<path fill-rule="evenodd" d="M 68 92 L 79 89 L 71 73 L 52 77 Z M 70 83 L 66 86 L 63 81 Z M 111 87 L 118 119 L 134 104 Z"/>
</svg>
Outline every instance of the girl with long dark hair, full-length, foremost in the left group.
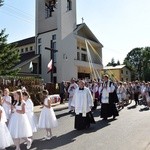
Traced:
<svg viewBox="0 0 150 150">
<path fill-rule="evenodd" d="M 24 138 L 26 138 L 27 141 L 27 149 L 30 149 L 32 139 L 28 137 L 32 136 L 32 128 L 25 113 L 25 102 L 23 101 L 22 92 L 20 90 L 14 92 L 14 99 L 16 100 L 16 104 L 12 106 L 13 113 L 8 128 L 16 145 L 16 150 L 20 150 L 20 140 Z"/>
</svg>

